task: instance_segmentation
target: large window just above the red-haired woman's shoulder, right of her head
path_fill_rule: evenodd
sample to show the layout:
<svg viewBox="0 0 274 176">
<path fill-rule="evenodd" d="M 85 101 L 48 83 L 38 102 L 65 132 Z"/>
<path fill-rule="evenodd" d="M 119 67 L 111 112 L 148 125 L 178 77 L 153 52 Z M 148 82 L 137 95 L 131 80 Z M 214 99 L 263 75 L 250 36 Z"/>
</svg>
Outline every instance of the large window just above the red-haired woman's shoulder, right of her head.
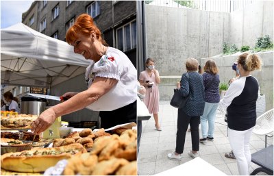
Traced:
<svg viewBox="0 0 274 176">
<path fill-rule="evenodd" d="M 136 21 L 132 21 L 116 29 L 116 46 L 121 51 L 129 51 L 136 48 L 137 38 Z"/>
</svg>

